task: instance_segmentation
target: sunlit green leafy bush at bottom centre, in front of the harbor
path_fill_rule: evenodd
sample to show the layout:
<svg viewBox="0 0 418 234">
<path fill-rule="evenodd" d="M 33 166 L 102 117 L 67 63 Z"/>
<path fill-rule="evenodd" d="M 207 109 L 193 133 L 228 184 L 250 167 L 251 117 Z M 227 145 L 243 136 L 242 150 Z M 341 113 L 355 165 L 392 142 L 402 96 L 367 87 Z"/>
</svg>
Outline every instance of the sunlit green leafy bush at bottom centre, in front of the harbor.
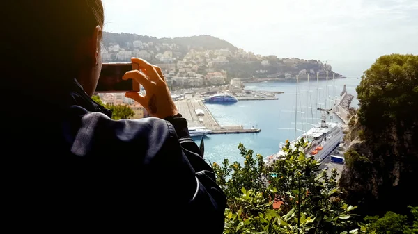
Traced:
<svg viewBox="0 0 418 234">
<path fill-rule="evenodd" d="M 213 164 L 228 197 L 225 233 L 341 233 L 355 227 L 356 207 L 339 197 L 336 170 L 330 176 L 320 170 L 320 163 L 305 156 L 306 147 L 303 139 L 295 146 L 288 142 L 285 156 L 266 165 L 263 156 L 240 144 L 243 165 Z"/>
</svg>

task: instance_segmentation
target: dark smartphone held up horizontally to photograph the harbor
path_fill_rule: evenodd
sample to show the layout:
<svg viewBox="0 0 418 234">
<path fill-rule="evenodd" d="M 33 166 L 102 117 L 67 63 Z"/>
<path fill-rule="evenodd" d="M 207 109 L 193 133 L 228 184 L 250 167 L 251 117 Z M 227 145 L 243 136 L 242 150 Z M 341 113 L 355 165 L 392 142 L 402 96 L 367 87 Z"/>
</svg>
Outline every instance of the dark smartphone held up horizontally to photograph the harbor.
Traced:
<svg viewBox="0 0 418 234">
<path fill-rule="evenodd" d="M 139 65 L 133 62 L 103 63 L 95 92 L 139 92 L 140 86 L 137 81 L 122 79 L 126 72 L 132 70 L 139 70 Z"/>
</svg>

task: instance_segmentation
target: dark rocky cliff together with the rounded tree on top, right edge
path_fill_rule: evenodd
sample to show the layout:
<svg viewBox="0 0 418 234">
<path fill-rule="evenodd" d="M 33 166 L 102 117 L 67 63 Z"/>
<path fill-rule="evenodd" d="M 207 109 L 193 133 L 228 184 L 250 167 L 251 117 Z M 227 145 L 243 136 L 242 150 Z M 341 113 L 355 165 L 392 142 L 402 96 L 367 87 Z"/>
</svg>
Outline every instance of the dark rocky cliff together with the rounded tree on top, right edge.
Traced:
<svg viewBox="0 0 418 234">
<path fill-rule="evenodd" d="M 346 156 L 340 185 L 361 215 L 408 213 L 417 206 L 411 185 L 418 176 L 418 56 L 381 56 L 357 87 L 358 121 L 352 128 L 362 142 Z M 357 134 L 353 134 L 357 133 Z M 396 201 L 396 202 L 388 202 Z"/>
</svg>

